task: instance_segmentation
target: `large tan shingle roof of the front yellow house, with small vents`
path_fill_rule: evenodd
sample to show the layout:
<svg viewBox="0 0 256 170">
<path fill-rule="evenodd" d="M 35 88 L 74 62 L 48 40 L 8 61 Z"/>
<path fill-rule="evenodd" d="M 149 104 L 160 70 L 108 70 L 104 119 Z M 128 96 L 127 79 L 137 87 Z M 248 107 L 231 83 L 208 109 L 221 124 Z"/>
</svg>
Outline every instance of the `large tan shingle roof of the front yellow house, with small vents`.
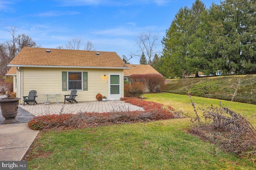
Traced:
<svg viewBox="0 0 256 170">
<path fill-rule="evenodd" d="M 24 47 L 8 66 L 128 69 L 123 64 L 116 52 Z"/>
</svg>

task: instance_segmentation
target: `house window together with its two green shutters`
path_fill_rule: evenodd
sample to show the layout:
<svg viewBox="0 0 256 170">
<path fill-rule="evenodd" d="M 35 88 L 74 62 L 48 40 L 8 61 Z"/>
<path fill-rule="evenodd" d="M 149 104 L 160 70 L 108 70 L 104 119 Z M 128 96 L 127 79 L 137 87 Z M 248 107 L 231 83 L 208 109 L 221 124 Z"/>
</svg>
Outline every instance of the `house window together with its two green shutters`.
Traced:
<svg viewBox="0 0 256 170">
<path fill-rule="evenodd" d="M 62 72 L 62 91 L 88 90 L 88 72 Z"/>
</svg>

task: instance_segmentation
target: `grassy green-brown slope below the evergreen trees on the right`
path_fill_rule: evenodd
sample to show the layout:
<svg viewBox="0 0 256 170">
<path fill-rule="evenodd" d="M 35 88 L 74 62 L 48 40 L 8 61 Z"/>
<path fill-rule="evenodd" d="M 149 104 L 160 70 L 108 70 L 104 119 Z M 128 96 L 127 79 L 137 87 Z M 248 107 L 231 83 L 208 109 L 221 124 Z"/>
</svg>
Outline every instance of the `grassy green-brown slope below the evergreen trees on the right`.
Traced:
<svg viewBox="0 0 256 170">
<path fill-rule="evenodd" d="M 170 79 L 166 81 L 164 92 L 231 100 L 238 80 L 242 80 L 237 90 L 235 102 L 256 104 L 256 74 L 243 76 L 216 76 L 205 78 Z"/>
</svg>

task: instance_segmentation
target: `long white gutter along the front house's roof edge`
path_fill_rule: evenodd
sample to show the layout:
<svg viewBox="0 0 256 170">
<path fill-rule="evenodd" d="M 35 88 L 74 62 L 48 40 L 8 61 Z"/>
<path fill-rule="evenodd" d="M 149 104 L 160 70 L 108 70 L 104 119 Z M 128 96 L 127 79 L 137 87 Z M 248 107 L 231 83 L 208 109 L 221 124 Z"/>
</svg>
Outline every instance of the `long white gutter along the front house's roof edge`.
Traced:
<svg viewBox="0 0 256 170">
<path fill-rule="evenodd" d="M 44 66 L 44 65 L 16 65 L 8 64 L 9 67 L 38 67 L 38 68 L 104 68 L 104 69 L 129 69 L 128 67 L 92 67 L 92 66 Z"/>
</svg>

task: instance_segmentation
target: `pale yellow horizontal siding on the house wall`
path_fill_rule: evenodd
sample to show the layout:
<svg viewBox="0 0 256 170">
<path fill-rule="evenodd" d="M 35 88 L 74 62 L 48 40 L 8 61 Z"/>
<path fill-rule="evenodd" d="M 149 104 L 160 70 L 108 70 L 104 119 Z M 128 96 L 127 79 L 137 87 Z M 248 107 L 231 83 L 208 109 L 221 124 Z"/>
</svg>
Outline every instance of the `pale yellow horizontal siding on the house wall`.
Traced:
<svg viewBox="0 0 256 170">
<path fill-rule="evenodd" d="M 82 71 L 88 72 L 88 91 L 77 92 L 76 100 L 78 102 L 97 101 L 98 93 L 108 97 L 108 74 L 121 73 L 122 92 L 123 92 L 123 70 L 122 69 L 82 69 L 82 68 L 20 68 L 21 70 L 21 93 L 20 96 L 27 96 L 30 90 L 37 91 L 36 101 L 38 103 L 46 102 L 44 93 L 60 93 L 57 96 L 58 102 L 64 102 L 64 94 L 70 94 L 70 91 L 62 91 L 62 71 Z M 106 78 L 104 78 L 104 74 Z M 17 74 L 18 77 L 18 74 Z M 18 82 L 18 80 L 17 80 Z M 18 87 L 17 87 L 18 92 Z M 22 97 L 21 97 L 22 98 Z M 23 98 L 22 98 L 23 100 Z M 50 99 L 55 103 L 55 99 Z M 23 101 L 22 101 L 23 103 Z"/>
</svg>

